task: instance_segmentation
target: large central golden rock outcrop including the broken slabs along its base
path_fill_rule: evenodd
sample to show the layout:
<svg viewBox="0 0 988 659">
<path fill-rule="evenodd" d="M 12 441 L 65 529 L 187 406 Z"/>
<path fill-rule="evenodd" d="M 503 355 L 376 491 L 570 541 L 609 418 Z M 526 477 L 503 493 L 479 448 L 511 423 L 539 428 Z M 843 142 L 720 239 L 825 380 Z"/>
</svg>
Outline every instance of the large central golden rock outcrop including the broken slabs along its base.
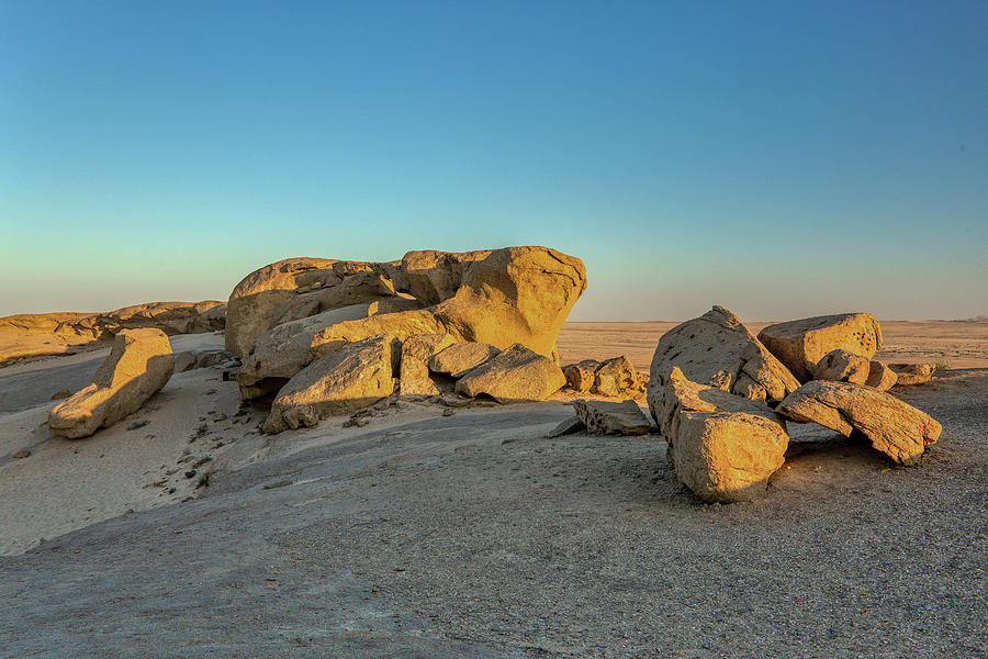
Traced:
<svg viewBox="0 0 988 659">
<path fill-rule="evenodd" d="M 555 338 L 585 288 L 583 263 L 546 247 L 288 259 L 234 288 L 226 347 L 271 434 L 395 393 L 541 401 L 566 383 Z"/>
</svg>

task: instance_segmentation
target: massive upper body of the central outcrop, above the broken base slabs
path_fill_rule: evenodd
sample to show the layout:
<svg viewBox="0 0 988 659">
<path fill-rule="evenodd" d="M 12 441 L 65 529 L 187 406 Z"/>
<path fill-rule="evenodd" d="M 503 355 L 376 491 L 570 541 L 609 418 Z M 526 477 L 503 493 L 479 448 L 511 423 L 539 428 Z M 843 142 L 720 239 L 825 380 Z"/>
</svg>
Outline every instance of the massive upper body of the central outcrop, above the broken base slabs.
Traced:
<svg viewBox="0 0 988 659">
<path fill-rule="evenodd" d="M 226 346 L 244 358 L 243 398 L 276 391 L 313 360 L 373 336 L 449 334 L 548 357 L 585 289 L 583 261 L 547 247 L 409 252 L 389 263 L 287 259 L 234 288 Z"/>
</svg>

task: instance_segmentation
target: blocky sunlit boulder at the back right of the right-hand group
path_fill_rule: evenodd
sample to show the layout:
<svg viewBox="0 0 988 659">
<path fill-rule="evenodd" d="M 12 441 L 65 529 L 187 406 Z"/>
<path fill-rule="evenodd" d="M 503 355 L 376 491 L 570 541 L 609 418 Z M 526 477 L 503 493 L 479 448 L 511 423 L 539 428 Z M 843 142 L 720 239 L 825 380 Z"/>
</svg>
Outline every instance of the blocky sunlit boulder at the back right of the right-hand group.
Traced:
<svg viewBox="0 0 988 659">
<path fill-rule="evenodd" d="M 882 326 L 869 313 L 841 313 L 768 325 L 759 333 L 759 340 L 806 382 L 831 350 L 874 357 L 882 348 Z"/>
</svg>

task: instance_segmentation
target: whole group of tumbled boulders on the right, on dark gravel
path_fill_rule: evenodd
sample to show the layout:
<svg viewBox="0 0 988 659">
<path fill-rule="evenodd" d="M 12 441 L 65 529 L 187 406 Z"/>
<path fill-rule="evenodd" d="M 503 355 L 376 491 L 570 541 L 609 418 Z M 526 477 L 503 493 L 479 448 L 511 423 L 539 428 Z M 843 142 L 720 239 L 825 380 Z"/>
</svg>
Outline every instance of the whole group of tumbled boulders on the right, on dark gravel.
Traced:
<svg viewBox="0 0 988 659">
<path fill-rule="evenodd" d="M 867 313 L 770 325 L 755 336 L 715 306 L 667 332 L 652 359 L 648 401 L 678 480 L 707 501 L 764 493 L 785 460 L 787 422 L 861 433 L 902 465 L 916 463 L 941 426 L 886 391 L 897 370 L 873 360 L 882 328 Z M 929 372 L 928 372 L 929 371 Z"/>
</svg>

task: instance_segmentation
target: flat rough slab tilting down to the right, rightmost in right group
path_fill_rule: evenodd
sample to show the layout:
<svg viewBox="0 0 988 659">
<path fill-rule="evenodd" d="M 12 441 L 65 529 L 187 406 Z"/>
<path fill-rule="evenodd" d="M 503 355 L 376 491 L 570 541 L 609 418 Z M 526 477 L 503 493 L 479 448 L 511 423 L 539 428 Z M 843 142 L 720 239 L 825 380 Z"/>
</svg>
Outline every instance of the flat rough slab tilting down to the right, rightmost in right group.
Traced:
<svg viewBox="0 0 988 659">
<path fill-rule="evenodd" d="M 940 438 L 941 425 L 930 415 L 872 387 L 852 382 L 807 382 L 776 411 L 802 423 L 818 423 L 850 436 L 857 429 L 875 449 L 896 462 L 913 465 Z"/>
</svg>

